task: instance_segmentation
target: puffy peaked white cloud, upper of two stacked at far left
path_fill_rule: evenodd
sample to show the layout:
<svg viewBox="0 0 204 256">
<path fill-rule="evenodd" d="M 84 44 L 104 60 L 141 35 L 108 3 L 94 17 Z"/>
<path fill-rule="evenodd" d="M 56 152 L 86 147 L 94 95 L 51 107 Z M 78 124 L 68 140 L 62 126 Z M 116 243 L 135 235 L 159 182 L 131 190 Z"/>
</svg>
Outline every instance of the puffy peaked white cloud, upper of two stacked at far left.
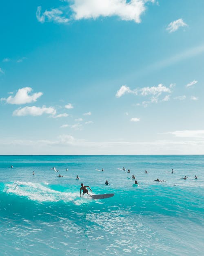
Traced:
<svg viewBox="0 0 204 256">
<path fill-rule="evenodd" d="M 30 87 L 24 87 L 17 91 L 15 96 L 9 96 L 7 99 L 1 98 L 1 100 L 5 100 L 9 104 L 26 104 L 35 102 L 43 93 L 33 93 L 29 95 L 32 91 Z"/>
</svg>

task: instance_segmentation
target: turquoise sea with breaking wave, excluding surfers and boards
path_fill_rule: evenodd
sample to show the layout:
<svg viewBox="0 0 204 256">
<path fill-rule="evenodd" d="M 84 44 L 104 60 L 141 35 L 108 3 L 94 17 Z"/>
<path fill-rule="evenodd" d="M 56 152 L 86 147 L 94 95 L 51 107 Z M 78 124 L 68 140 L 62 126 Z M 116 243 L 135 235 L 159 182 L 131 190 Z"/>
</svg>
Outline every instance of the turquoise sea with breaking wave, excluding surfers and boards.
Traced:
<svg viewBox="0 0 204 256">
<path fill-rule="evenodd" d="M 0 255 L 203 256 L 203 170 L 204 156 L 0 156 Z M 81 182 L 115 196 L 80 197 Z"/>
</svg>

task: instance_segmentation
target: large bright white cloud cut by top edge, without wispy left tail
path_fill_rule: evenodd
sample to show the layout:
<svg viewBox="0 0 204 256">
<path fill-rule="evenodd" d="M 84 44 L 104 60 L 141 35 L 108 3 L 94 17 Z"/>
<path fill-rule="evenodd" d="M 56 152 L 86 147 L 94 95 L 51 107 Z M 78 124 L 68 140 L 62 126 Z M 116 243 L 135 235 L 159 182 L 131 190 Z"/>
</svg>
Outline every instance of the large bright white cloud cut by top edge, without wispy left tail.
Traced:
<svg viewBox="0 0 204 256">
<path fill-rule="evenodd" d="M 68 0 L 69 2 L 69 0 Z M 146 2 L 153 0 L 74 0 L 71 5 L 75 20 L 98 18 L 100 16 L 118 16 L 122 20 L 134 20 L 140 23 Z"/>
</svg>

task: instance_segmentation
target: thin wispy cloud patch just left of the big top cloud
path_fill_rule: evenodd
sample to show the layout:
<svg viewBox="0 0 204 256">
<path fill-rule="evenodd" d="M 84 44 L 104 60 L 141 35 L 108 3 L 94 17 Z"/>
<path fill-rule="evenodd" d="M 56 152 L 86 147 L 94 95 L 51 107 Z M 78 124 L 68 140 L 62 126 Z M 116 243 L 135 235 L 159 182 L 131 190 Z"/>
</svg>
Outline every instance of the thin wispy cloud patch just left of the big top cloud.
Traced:
<svg viewBox="0 0 204 256">
<path fill-rule="evenodd" d="M 45 21 L 54 21 L 56 23 L 67 23 L 69 21 L 68 18 L 63 16 L 63 12 L 59 9 L 51 9 L 51 11 L 45 10 L 44 13 L 41 14 L 41 6 L 38 6 L 36 11 L 36 17 L 38 21 L 44 23 Z"/>
</svg>

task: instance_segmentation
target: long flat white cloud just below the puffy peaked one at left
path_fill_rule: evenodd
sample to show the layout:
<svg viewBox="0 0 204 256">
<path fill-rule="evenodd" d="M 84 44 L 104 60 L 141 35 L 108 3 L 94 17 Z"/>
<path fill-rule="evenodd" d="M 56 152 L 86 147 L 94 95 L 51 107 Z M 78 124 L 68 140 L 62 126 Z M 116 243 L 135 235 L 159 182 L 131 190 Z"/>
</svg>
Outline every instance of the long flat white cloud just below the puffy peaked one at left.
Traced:
<svg viewBox="0 0 204 256">
<path fill-rule="evenodd" d="M 53 107 L 38 107 L 38 106 L 25 106 L 24 108 L 19 108 L 13 111 L 13 116 L 41 116 L 42 114 L 55 115 L 56 110 Z"/>
</svg>

